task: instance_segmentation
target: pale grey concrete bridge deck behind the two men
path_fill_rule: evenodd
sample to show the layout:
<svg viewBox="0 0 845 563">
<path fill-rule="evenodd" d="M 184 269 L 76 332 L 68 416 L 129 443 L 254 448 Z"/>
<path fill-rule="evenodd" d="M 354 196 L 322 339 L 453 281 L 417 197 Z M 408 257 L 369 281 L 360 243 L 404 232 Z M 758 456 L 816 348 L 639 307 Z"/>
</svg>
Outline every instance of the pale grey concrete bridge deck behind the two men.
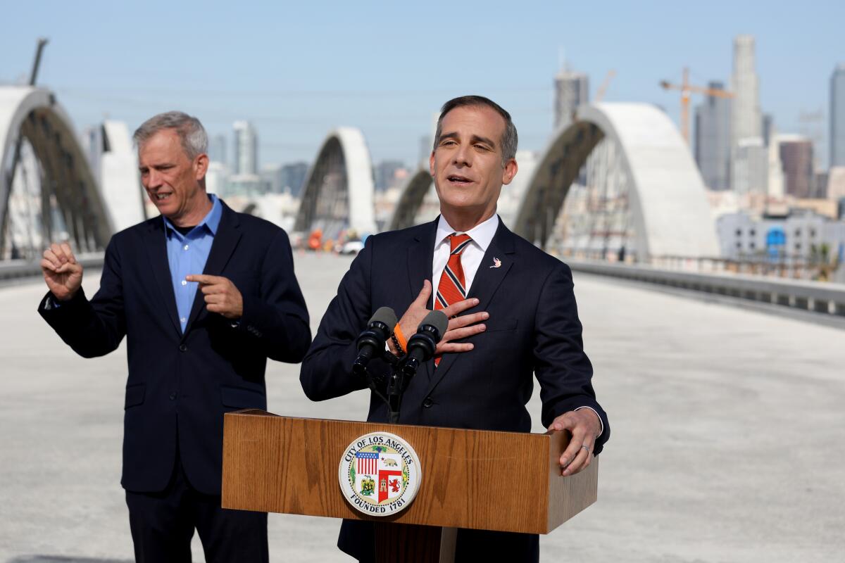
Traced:
<svg viewBox="0 0 845 563">
<path fill-rule="evenodd" d="M 314 329 L 348 263 L 297 257 Z M 613 437 L 599 502 L 541 539 L 542 560 L 841 560 L 842 331 L 575 282 Z M 0 290 L 0 561 L 131 560 L 119 485 L 125 351 L 75 356 L 35 313 L 42 294 L 41 284 Z M 366 412 L 363 392 L 308 402 L 297 375 L 270 363 L 271 411 Z M 334 547 L 338 525 L 271 515 L 271 560 L 348 560 Z"/>
</svg>

